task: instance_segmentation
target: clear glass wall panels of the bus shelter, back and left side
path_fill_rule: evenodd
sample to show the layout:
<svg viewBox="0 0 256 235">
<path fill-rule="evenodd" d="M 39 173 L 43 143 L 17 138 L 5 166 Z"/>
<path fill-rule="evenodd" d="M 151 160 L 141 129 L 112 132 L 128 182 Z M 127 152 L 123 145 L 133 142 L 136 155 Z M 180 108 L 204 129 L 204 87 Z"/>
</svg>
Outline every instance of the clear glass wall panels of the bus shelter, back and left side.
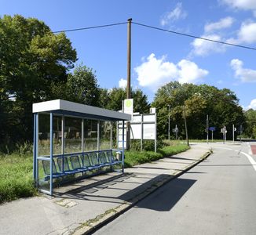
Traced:
<svg viewBox="0 0 256 235">
<path fill-rule="evenodd" d="M 49 192 L 49 166 L 50 166 L 50 115 L 38 114 L 38 150 L 37 150 L 37 184 L 40 190 Z M 64 117 L 53 115 L 53 156 L 61 154 L 79 153 L 83 151 L 101 150 L 112 148 L 112 122 L 83 120 L 82 141 L 82 118 Z M 98 130 L 98 123 L 99 130 Z M 62 134 L 64 128 L 64 135 Z M 100 138 L 98 138 L 100 132 Z M 63 138 L 64 137 L 64 138 Z M 64 143 L 62 143 L 64 140 Z M 98 144 L 98 140 L 100 143 Z M 83 144 L 83 148 L 82 148 Z M 63 156 L 63 155 L 62 155 Z M 60 172 L 56 157 L 53 157 L 53 173 Z M 59 180 L 59 179 L 57 179 Z M 53 183 L 56 179 L 53 179 Z"/>
</svg>

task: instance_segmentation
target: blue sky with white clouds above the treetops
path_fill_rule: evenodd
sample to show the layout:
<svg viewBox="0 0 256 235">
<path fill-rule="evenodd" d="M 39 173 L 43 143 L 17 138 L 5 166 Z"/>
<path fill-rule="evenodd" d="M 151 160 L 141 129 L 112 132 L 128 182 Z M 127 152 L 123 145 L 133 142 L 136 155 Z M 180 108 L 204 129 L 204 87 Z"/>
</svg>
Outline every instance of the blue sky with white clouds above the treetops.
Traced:
<svg viewBox="0 0 256 235">
<path fill-rule="evenodd" d="M 0 17 L 20 14 L 52 31 L 127 22 L 256 48 L 256 0 L 0 0 Z M 126 86 L 127 25 L 66 33 L 101 88 Z M 256 110 L 256 50 L 221 45 L 132 24 L 131 85 L 152 102 L 170 81 L 231 89 Z"/>
</svg>

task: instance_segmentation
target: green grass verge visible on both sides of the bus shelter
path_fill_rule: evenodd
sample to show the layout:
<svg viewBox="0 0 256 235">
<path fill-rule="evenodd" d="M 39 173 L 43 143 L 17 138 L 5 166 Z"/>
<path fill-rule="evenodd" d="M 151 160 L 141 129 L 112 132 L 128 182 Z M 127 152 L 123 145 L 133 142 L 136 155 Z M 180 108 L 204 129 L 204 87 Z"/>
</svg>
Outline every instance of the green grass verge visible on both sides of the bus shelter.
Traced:
<svg viewBox="0 0 256 235">
<path fill-rule="evenodd" d="M 156 161 L 162 157 L 181 153 L 188 146 L 178 142 L 166 142 L 158 153 L 152 151 L 126 152 L 125 166 Z M 31 149 L 31 148 L 30 148 Z M 31 150 L 30 150 L 31 151 Z M 0 154 L 0 204 L 20 197 L 31 197 L 37 194 L 33 182 L 33 157 L 27 150 L 14 154 Z"/>
</svg>

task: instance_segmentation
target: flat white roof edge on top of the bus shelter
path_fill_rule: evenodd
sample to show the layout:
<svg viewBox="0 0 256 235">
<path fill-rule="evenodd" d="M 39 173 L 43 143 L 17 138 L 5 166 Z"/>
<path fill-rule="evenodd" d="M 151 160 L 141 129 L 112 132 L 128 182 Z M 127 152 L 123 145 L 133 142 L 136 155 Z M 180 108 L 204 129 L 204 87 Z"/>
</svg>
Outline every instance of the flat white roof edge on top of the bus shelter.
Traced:
<svg viewBox="0 0 256 235">
<path fill-rule="evenodd" d="M 113 110 L 106 110 L 103 108 L 93 107 L 81 103 L 74 103 L 63 99 L 54 99 L 40 103 L 33 103 L 33 113 L 49 112 L 53 110 L 65 110 L 74 113 L 91 114 L 101 117 L 110 117 L 127 121 L 131 119 L 130 114 L 123 114 Z"/>
</svg>

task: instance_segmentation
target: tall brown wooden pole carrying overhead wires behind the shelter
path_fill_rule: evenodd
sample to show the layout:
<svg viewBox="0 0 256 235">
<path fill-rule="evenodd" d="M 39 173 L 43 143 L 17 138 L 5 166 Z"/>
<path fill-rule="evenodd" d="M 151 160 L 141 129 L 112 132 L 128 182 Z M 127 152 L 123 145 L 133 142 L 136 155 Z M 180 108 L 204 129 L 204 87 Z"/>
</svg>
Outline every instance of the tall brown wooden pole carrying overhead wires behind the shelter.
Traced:
<svg viewBox="0 0 256 235">
<path fill-rule="evenodd" d="M 127 24 L 127 87 L 126 99 L 130 99 L 130 56 L 131 56 L 131 23 L 132 19 L 128 19 Z M 126 149 L 130 150 L 130 121 L 126 122 Z"/>
</svg>

